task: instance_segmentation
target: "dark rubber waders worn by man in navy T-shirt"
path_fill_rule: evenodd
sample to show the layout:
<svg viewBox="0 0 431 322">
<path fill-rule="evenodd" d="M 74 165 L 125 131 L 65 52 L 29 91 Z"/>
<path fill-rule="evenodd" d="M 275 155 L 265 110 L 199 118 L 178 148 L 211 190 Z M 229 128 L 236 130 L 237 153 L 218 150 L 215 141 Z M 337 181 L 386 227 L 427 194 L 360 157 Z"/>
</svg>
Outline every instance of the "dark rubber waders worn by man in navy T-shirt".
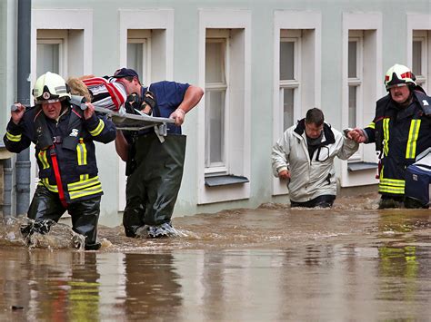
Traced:
<svg viewBox="0 0 431 322">
<path fill-rule="evenodd" d="M 185 135 L 167 135 L 162 143 L 154 133 L 135 141 L 135 171 L 127 177 L 123 217 L 125 234 L 134 237 L 141 226 L 171 220 L 183 178 Z"/>
</svg>

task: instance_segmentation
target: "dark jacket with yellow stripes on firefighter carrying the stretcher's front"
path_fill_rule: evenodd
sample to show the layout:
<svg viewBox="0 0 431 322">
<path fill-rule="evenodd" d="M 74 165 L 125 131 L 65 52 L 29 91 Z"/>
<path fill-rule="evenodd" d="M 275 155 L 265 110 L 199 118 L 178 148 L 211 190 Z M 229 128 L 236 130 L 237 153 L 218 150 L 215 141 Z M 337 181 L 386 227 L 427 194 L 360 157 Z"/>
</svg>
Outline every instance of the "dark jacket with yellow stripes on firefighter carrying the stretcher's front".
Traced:
<svg viewBox="0 0 431 322">
<path fill-rule="evenodd" d="M 4 137 L 8 151 L 18 153 L 35 143 L 39 185 L 58 193 L 53 167 L 56 155 L 65 201 L 73 203 L 103 194 L 97 176 L 95 143 L 115 140 L 115 125 L 93 115 L 85 120 L 81 109 L 71 105 L 56 122 L 45 117 L 40 105 L 28 109 L 17 125 L 7 124 Z"/>
</svg>

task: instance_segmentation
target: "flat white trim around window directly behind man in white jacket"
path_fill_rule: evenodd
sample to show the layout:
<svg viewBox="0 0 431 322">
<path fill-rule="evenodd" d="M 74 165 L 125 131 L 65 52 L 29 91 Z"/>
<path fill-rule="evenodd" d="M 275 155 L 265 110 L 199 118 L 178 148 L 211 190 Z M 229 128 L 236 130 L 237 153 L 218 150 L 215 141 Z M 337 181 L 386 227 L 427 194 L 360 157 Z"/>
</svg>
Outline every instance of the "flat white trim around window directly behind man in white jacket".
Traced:
<svg viewBox="0 0 431 322">
<path fill-rule="evenodd" d="M 322 15 L 316 12 L 298 12 L 298 11 L 276 11 L 274 13 L 274 78 L 273 78 L 273 143 L 280 137 L 283 132 L 280 129 L 279 122 L 279 79 L 280 79 L 280 30 L 281 29 L 313 29 L 314 30 L 314 105 L 320 106 L 321 102 L 321 86 L 322 86 Z M 302 39 L 304 43 L 304 39 Z M 303 53 L 304 53 L 303 48 Z M 302 55 L 304 57 L 304 55 Z M 303 58 L 301 58 L 303 59 Z M 304 80 L 303 80 L 304 81 Z M 302 95 L 304 95 L 303 93 Z M 304 104 L 303 104 L 304 105 Z M 308 110 L 309 106 L 301 107 L 301 114 Z M 294 115 L 294 120 L 299 118 L 300 115 Z M 272 185 L 273 195 L 286 194 L 287 188 L 285 182 L 280 181 L 278 178 L 273 178 Z"/>
</svg>

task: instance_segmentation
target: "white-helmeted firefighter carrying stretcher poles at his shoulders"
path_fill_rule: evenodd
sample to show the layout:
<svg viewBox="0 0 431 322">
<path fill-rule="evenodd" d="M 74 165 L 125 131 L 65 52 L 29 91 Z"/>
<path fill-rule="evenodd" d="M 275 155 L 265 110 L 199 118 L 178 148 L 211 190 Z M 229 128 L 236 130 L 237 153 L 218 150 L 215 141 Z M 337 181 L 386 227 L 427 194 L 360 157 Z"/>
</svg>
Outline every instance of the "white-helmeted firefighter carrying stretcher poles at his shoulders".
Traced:
<svg viewBox="0 0 431 322">
<path fill-rule="evenodd" d="M 67 210 L 74 231 L 85 236 L 85 249 L 99 249 L 97 221 L 103 190 L 94 141 L 114 141 L 115 125 L 96 115 L 89 102 L 84 111 L 72 104 L 68 85 L 56 73 L 40 76 L 33 96 L 35 106 L 26 111 L 21 103 L 15 104 L 4 137 L 7 150 L 15 153 L 35 143 L 39 182 L 27 217 L 35 223 L 54 223 Z M 49 231 L 50 224 L 42 226 L 38 232 Z"/>
</svg>

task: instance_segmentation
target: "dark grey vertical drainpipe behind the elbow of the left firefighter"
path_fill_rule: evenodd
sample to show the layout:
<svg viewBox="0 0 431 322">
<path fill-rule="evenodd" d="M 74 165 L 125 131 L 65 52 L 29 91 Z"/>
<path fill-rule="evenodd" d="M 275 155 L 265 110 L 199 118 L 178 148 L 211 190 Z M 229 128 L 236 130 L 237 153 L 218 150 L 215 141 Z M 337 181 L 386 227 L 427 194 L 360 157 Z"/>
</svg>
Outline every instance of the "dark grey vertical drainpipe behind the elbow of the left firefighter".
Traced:
<svg viewBox="0 0 431 322">
<path fill-rule="evenodd" d="M 30 105 L 31 0 L 18 0 L 16 101 Z M 16 214 L 25 214 L 30 204 L 30 152 L 16 158 Z"/>
</svg>

